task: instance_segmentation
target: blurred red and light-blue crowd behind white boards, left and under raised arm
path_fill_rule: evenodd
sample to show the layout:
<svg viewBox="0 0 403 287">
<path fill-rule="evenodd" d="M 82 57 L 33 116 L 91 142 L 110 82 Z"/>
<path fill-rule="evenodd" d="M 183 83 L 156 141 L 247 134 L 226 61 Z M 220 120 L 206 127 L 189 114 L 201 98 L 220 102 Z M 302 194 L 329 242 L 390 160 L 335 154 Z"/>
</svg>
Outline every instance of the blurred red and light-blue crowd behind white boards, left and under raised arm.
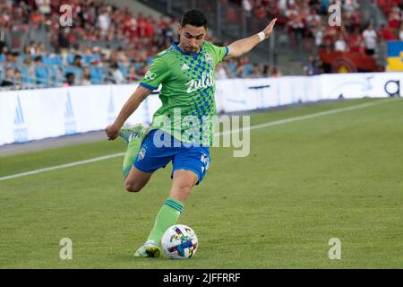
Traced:
<svg viewBox="0 0 403 287">
<path fill-rule="evenodd" d="M 73 26 L 61 27 L 60 6 L 64 1 L 25 0 L 0 3 L 2 30 L 45 27 L 51 51 L 43 42 L 30 41 L 16 51 L 0 41 L 1 86 L 15 88 L 29 84 L 56 86 L 140 81 L 159 51 L 177 40 L 178 20 L 133 14 L 129 8 L 93 0 L 70 0 Z M 18 40 L 18 39 L 16 39 Z M 208 34 L 207 39 L 218 45 Z M 104 41 L 115 45 L 93 46 Z M 120 45 L 117 45 L 119 43 Z M 217 77 L 278 76 L 276 67 L 250 63 L 247 57 L 219 65 Z M 57 83 L 56 78 L 63 83 Z"/>
</svg>

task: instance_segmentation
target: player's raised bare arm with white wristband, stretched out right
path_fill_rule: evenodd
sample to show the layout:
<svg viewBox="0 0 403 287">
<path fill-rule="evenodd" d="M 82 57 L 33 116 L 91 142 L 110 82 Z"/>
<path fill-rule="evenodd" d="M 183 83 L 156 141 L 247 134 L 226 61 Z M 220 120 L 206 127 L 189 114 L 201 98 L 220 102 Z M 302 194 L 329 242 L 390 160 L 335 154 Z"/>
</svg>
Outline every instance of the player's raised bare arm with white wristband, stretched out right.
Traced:
<svg viewBox="0 0 403 287">
<path fill-rule="evenodd" d="M 270 34 L 274 28 L 274 24 L 276 24 L 277 18 L 271 20 L 270 24 L 262 30 L 262 32 L 255 34 L 251 37 L 238 39 L 234 43 L 228 46 L 228 54 L 225 57 L 226 59 L 229 57 L 240 57 L 245 53 L 252 50 L 257 44 L 262 42 L 264 39 L 268 39 Z"/>
</svg>

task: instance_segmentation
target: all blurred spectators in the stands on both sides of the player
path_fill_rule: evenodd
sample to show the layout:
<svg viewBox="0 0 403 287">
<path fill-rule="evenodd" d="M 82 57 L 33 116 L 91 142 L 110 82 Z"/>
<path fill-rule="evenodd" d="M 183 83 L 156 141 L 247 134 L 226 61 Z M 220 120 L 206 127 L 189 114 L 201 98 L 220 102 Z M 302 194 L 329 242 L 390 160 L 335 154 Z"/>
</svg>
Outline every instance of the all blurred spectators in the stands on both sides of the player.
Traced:
<svg viewBox="0 0 403 287">
<path fill-rule="evenodd" d="M 228 1 L 243 7 L 250 17 L 262 20 L 277 17 L 278 25 L 287 30 L 289 44 L 302 43 L 306 50 L 327 48 L 373 56 L 379 41 L 403 40 L 403 4 L 399 0 L 377 0 L 388 18 L 388 24 L 378 30 L 371 24 L 363 26 L 357 0 Z M 30 41 L 17 51 L 0 37 L 1 86 L 140 81 L 153 57 L 177 40 L 177 19 L 135 14 L 127 7 L 119 8 L 99 0 L 69 0 L 68 4 L 73 8 L 73 26 L 61 27 L 59 9 L 62 4 L 64 1 L 61 0 L 0 2 L 2 31 L 46 28 L 51 44 L 49 48 L 43 42 Z M 342 8 L 343 24 L 340 27 L 327 24 L 330 4 L 339 4 Z M 13 39 L 17 44 L 19 40 Z M 207 40 L 226 44 L 219 43 L 211 33 Z M 111 45 L 85 44 L 96 41 Z M 281 72 L 275 66 L 251 63 L 248 57 L 241 57 L 220 64 L 216 74 L 225 79 L 279 76 Z M 56 79 L 63 79 L 63 83 Z"/>
</svg>

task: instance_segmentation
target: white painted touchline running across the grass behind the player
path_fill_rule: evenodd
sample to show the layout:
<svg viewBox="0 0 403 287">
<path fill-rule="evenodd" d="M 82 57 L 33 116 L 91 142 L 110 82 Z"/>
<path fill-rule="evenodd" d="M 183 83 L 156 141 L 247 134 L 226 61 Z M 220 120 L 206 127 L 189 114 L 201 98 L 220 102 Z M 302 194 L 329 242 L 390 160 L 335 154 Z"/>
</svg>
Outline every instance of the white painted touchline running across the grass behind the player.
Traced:
<svg viewBox="0 0 403 287">
<path fill-rule="evenodd" d="M 317 112 L 317 113 L 313 113 L 313 114 L 305 115 L 305 116 L 300 116 L 300 117 L 289 117 L 289 118 L 285 118 L 285 119 L 279 119 L 279 120 L 276 120 L 276 121 L 273 121 L 273 122 L 268 122 L 268 123 L 265 123 L 265 124 L 260 124 L 260 125 L 255 125 L 255 126 L 248 126 L 248 127 L 241 128 L 241 129 L 221 132 L 221 133 L 219 133 L 217 135 L 228 135 L 228 134 L 231 134 L 231 133 L 238 133 L 241 130 L 244 131 L 244 130 L 247 130 L 247 129 L 252 130 L 252 129 L 259 129 L 259 128 L 268 127 L 268 126 L 279 126 L 279 125 L 283 125 L 283 124 L 287 124 L 287 123 L 291 123 L 291 122 L 296 122 L 296 121 L 304 120 L 304 119 L 308 119 L 308 118 L 322 117 L 322 116 L 327 116 L 327 115 L 331 115 L 331 114 L 341 113 L 341 112 L 348 111 L 348 110 L 363 109 L 363 108 L 367 108 L 367 107 L 372 107 L 374 105 L 379 105 L 379 104 L 382 104 L 382 103 L 388 103 L 388 102 L 390 102 L 392 100 L 397 100 L 397 99 L 399 99 L 399 98 L 388 99 L 388 100 L 377 100 L 375 102 L 364 103 L 364 104 L 355 105 L 355 106 L 351 106 L 351 107 L 347 107 L 347 108 L 330 109 L 330 110 L 321 111 L 321 112 Z M 98 157 L 98 158 L 85 160 L 85 161 L 75 161 L 75 162 L 66 163 L 66 164 L 62 164 L 62 165 L 56 165 L 54 167 L 49 167 L 49 168 L 45 168 L 45 169 L 21 172 L 21 173 L 13 174 L 13 175 L 10 175 L 10 176 L 1 177 L 0 181 L 7 180 L 7 179 L 13 179 L 13 178 L 21 178 L 21 177 L 25 177 L 25 176 L 29 176 L 29 175 L 32 175 L 32 174 L 45 172 L 45 171 L 50 171 L 50 170 L 61 170 L 61 169 L 72 168 L 72 167 L 75 167 L 75 166 L 78 166 L 78 165 L 81 165 L 81 164 L 87 164 L 87 163 L 96 162 L 96 161 L 104 161 L 104 160 L 116 158 L 116 157 L 119 157 L 119 156 L 124 156 L 124 152 L 109 154 L 109 155 L 105 155 L 105 156 L 101 156 L 101 157 Z"/>
</svg>

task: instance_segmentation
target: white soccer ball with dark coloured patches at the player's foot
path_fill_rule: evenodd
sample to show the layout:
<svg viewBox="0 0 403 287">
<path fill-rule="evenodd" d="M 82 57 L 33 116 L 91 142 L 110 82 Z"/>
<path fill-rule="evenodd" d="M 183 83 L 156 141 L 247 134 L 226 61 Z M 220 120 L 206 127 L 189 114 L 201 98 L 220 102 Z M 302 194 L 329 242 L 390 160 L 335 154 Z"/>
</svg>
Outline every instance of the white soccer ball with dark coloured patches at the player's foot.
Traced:
<svg viewBox="0 0 403 287">
<path fill-rule="evenodd" d="M 168 258 L 185 259 L 194 256 L 199 246 L 199 240 L 192 228 L 183 224 L 175 224 L 164 232 L 161 246 Z"/>
</svg>

